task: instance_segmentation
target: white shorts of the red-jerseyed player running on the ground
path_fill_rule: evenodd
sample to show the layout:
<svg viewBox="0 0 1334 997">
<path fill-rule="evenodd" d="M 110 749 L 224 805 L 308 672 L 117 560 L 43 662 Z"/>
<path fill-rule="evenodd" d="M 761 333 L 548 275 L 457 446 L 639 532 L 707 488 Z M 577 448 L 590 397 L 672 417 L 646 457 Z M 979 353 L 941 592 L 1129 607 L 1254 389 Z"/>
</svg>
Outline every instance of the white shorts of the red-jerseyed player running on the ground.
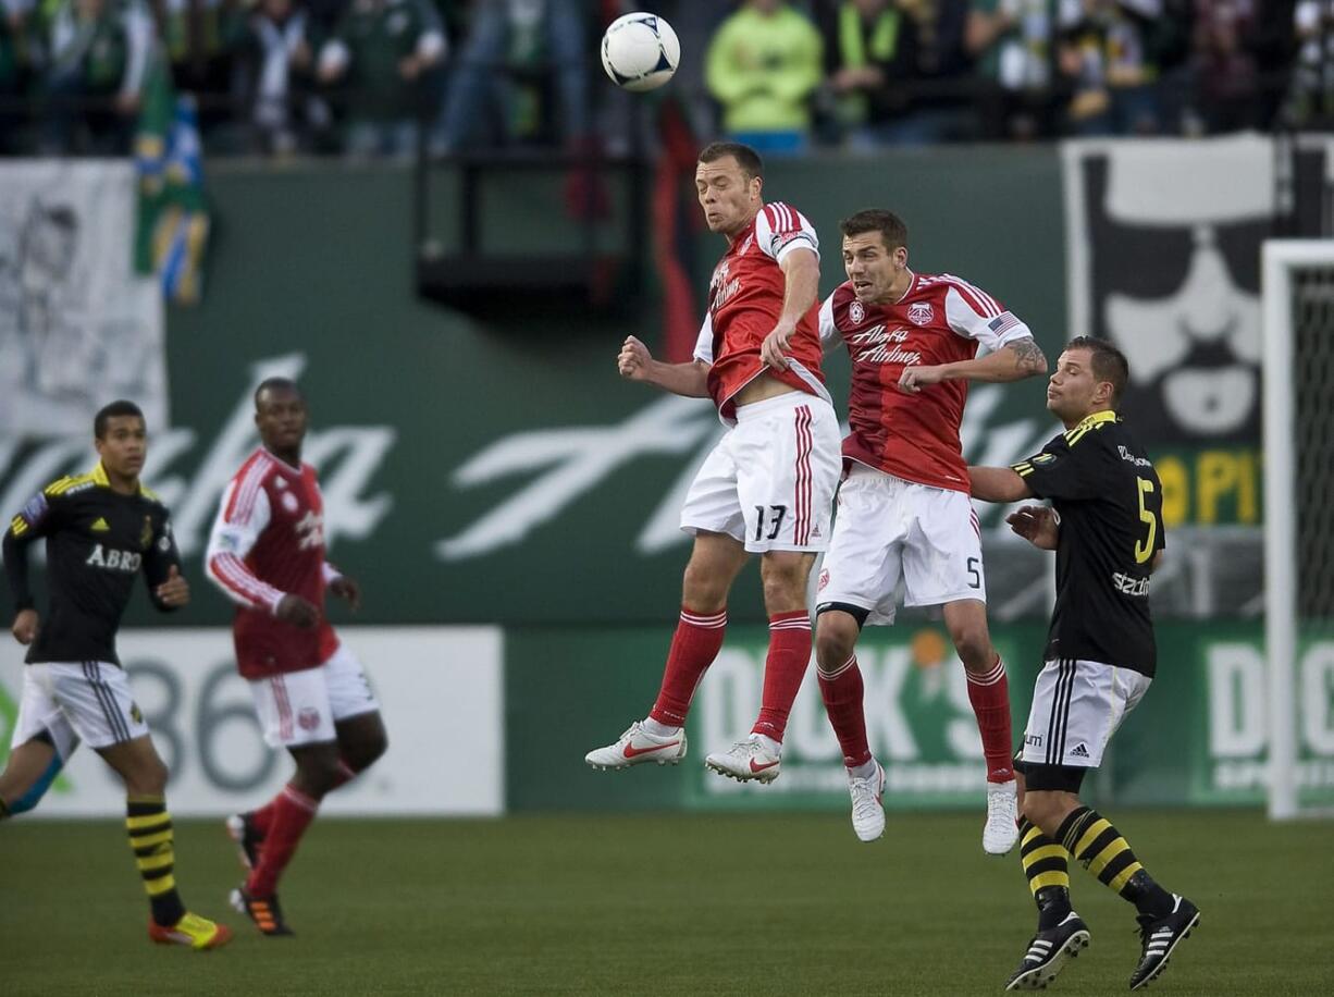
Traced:
<svg viewBox="0 0 1334 997">
<path fill-rule="evenodd" d="M 380 709 L 362 663 L 343 645 L 317 667 L 251 679 L 249 687 L 269 747 L 335 741 L 335 723 Z"/>
</svg>

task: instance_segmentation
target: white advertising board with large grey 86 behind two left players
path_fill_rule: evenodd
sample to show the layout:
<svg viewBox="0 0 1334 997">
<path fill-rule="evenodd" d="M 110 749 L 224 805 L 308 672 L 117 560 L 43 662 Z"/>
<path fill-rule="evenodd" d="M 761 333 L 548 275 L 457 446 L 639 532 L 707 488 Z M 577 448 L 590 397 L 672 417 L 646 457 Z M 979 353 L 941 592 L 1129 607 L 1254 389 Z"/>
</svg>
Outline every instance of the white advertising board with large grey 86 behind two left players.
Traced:
<svg viewBox="0 0 1334 997">
<path fill-rule="evenodd" d="M 390 747 L 366 775 L 332 793 L 329 814 L 467 814 L 504 810 L 502 637 L 495 627 L 348 627 L 340 631 L 370 675 Z M 119 651 L 136 705 L 171 770 L 172 813 L 220 815 L 263 803 L 291 777 L 267 747 L 231 631 L 128 630 Z M 0 642 L 0 754 L 23 691 L 23 647 Z M 124 786 L 88 747 L 33 815 L 124 811 Z M 27 818 L 25 818 L 27 819 Z"/>
</svg>

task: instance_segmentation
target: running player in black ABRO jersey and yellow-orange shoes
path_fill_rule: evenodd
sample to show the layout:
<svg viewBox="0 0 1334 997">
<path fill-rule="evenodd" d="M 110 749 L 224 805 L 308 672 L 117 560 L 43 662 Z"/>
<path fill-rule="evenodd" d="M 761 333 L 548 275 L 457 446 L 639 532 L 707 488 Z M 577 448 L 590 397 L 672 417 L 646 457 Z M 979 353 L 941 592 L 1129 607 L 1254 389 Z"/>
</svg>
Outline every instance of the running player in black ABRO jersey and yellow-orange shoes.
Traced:
<svg viewBox="0 0 1334 997">
<path fill-rule="evenodd" d="M 125 782 L 125 829 L 152 908 L 148 936 L 215 949 L 231 930 L 187 912 L 176 892 L 163 795 L 167 766 L 116 658 L 116 630 L 140 573 L 164 611 L 189 602 L 189 586 L 180 574 L 167 509 L 139 483 L 147 452 L 143 412 L 132 402 L 112 402 L 97 412 L 93 436 L 93 471 L 48 484 L 4 535 L 5 574 L 17 607 L 12 630 L 29 650 L 13 745 L 0 774 L 0 817 L 11 813 L 13 801 L 31 801 L 33 783 L 80 739 L 87 742 Z M 47 541 L 45 621 L 28 587 L 28 547 L 37 538 Z"/>
</svg>

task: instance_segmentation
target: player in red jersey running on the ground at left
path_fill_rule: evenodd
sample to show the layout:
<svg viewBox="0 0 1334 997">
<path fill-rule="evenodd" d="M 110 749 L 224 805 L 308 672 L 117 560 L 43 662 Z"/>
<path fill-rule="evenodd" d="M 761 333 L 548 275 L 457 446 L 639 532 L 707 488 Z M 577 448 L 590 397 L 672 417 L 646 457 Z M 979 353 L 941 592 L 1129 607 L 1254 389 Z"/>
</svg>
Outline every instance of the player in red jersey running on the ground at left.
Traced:
<svg viewBox="0 0 1334 997">
<path fill-rule="evenodd" d="M 384 754 L 380 707 L 362 665 L 324 618 L 324 590 L 362 599 L 356 582 L 324 559 L 324 501 L 301 463 L 305 399 L 285 378 L 255 391 L 261 446 L 223 492 L 208 538 L 208 577 L 237 603 L 236 665 L 255 695 L 264 739 L 285 747 L 296 773 L 259 810 L 228 818 L 251 870 L 232 905 L 267 936 L 292 934 L 277 880 L 324 794 Z"/>
</svg>

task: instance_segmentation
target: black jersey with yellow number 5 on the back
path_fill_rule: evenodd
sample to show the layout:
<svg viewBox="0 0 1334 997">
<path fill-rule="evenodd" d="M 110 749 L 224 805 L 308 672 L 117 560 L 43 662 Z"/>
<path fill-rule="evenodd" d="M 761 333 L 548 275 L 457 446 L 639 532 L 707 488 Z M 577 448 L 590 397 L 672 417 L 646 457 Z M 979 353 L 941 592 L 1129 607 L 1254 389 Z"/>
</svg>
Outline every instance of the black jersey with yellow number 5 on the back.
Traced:
<svg viewBox="0 0 1334 997">
<path fill-rule="evenodd" d="M 1014 470 L 1061 517 L 1045 659 L 1153 675 L 1149 575 L 1166 537 L 1162 483 L 1145 451 L 1115 412 L 1094 412 Z"/>
</svg>

